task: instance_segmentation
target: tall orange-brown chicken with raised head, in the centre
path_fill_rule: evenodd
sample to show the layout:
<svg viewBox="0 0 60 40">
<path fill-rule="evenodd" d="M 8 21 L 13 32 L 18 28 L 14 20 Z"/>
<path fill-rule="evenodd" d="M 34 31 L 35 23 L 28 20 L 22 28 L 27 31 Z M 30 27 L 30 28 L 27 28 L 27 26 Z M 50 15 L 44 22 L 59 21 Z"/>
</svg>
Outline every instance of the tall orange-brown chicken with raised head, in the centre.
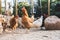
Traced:
<svg viewBox="0 0 60 40">
<path fill-rule="evenodd" d="M 32 23 L 34 21 L 34 17 L 31 18 L 28 16 L 27 10 L 25 7 L 22 8 L 23 16 L 22 16 L 22 24 L 27 28 L 30 29 L 32 27 Z"/>
</svg>

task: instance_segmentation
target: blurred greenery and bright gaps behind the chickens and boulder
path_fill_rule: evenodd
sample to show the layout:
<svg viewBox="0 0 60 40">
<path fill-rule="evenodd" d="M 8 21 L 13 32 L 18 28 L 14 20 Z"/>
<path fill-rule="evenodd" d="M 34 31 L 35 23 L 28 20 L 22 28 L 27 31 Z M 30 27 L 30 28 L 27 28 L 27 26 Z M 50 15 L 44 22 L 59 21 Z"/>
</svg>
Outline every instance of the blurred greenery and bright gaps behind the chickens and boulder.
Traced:
<svg viewBox="0 0 60 40">
<path fill-rule="evenodd" d="M 50 0 L 50 5 L 48 3 L 49 0 L 17 0 L 17 14 L 21 17 L 22 12 L 21 8 L 23 6 L 26 7 L 29 16 L 32 14 L 35 17 L 39 17 L 43 14 L 48 14 L 48 10 L 50 11 L 50 15 L 56 15 L 60 17 L 60 0 Z M 50 9 L 48 7 L 50 6 Z M 16 0 L 1 0 L 1 12 L 5 14 L 6 10 L 10 7 L 11 14 L 16 15 Z"/>
</svg>

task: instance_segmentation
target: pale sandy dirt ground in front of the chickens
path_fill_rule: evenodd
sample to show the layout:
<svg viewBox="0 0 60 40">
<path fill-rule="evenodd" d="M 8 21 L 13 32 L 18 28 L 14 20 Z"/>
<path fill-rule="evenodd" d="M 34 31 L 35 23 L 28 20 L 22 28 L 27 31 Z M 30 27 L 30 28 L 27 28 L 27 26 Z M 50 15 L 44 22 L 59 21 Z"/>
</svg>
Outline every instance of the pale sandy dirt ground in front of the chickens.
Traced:
<svg viewBox="0 0 60 40">
<path fill-rule="evenodd" d="M 17 28 L 15 31 L 3 32 L 0 40 L 60 40 L 60 30 L 30 29 L 26 33 L 26 29 Z"/>
</svg>

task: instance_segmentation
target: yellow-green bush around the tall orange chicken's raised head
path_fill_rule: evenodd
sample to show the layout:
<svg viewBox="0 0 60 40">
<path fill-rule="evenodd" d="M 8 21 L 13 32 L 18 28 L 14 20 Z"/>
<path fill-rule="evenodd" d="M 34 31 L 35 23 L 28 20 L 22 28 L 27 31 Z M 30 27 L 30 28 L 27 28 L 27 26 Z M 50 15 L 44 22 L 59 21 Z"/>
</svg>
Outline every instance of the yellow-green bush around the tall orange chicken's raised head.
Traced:
<svg viewBox="0 0 60 40">
<path fill-rule="evenodd" d="M 30 16 L 31 15 L 31 13 L 30 13 L 31 6 L 27 2 L 18 3 L 18 15 L 20 17 L 22 16 L 22 11 L 21 11 L 22 7 L 25 7 L 27 9 L 28 15 Z M 15 13 L 15 7 L 14 7 L 14 13 Z"/>
</svg>

